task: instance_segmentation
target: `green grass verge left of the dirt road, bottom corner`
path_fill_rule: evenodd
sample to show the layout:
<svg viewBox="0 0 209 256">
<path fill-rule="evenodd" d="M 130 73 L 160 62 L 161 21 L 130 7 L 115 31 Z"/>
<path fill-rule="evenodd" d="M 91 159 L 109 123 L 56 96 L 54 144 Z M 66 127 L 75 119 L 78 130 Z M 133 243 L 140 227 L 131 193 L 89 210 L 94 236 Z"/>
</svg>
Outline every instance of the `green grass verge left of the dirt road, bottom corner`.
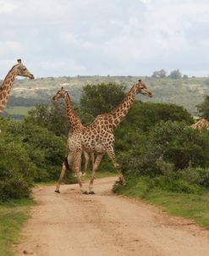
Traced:
<svg viewBox="0 0 209 256">
<path fill-rule="evenodd" d="M 0 255 L 14 255 L 14 244 L 19 242 L 19 232 L 29 210 L 35 203 L 32 199 L 21 199 L 0 203 Z"/>
</svg>

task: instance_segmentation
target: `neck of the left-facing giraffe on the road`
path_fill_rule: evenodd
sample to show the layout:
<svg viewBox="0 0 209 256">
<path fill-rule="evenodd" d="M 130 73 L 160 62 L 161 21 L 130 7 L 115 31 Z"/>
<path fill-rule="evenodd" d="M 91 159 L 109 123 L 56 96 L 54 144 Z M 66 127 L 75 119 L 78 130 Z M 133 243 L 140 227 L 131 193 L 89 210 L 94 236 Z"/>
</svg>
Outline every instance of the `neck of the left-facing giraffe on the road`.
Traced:
<svg viewBox="0 0 209 256">
<path fill-rule="evenodd" d="M 82 130 L 84 126 L 82 125 L 80 118 L 74 113 L 68 92 L 66 92 L 64 99 L 71 132 Z"/>
</svg>

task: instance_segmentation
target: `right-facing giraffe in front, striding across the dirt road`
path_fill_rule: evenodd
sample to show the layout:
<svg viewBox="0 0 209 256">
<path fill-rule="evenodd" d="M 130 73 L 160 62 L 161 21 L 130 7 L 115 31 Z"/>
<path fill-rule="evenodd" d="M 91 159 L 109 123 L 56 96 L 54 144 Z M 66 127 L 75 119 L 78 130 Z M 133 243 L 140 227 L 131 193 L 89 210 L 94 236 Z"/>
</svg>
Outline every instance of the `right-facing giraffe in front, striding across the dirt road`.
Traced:
<svg viewBox="0 0 209 256">
<path fill-rule="evenodd" d="M 114 135 L 113 129 L 118 126 L 118 124 L 124 119 L 126 114 L 128 114 L 129 109 L 134 103 L 136 94 L 144 94 L 152 97 L 151 92 L 147 89 L 144 82 L 137 82 L 131 87 L 129 92 L 124 97 L 122 103 L 118 105 L 115 109 L 107 114 L 100 114 L 96 117 L 91 125 L 83 126 L 79 133 L 73 136 L 71 142 L 69 142 L 69 148 L 74 152 L 70 156 L 70 160 L 74 163 L 74 171 L 78 173 L 80 170 L 81 153 L 82 150 L 85 152 L 97 153 L 96 160 L 93 165 L 91 181 L 89 183 L 89 192 L 86 192 L 82 188 L 82 182 L 79 181 L 80 190 L 84 193 L 94 194 L 93 182 L 95 179 L 96 170 L 102 161 L 105 153 L 112 160 L 115 169 L 118 172 L 120 180 L 125 184 L 124 175 L 120 170 L 120 166 L 116 161 L 114 153 Z"/>
</svg>

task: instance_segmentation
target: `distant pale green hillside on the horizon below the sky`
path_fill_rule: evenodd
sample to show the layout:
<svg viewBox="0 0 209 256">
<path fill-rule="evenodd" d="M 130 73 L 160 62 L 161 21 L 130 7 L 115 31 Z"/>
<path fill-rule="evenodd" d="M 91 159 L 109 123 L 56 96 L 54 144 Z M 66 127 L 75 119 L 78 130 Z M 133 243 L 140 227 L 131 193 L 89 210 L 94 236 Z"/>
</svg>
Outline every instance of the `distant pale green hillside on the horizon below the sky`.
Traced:
<svg viewBox="0 0 209 256">
<path fill-rule="evenodd" d="M 127 87 L 127 90 L 139 79 L 146 82 L 154 97 L 138 96 L 140 100 L 162 103 L 176 103 L 184 106 L 191 114 L 196 115 L 195 106 L 209 94 L 209 78 L 169 79 L 139 76 L 76 76 L 46 77 L 34 81 L 19 79 L 14 82 L 8 107 L 21 104 L 28 107 L 36 103 L 47 102 L 61 86 L 69 90 L 75 103 L 80 102 L 82 87 L 87 84 L 115 82 Z M 22 101 L 22 103 L 21 103 Z"/>
</svg>

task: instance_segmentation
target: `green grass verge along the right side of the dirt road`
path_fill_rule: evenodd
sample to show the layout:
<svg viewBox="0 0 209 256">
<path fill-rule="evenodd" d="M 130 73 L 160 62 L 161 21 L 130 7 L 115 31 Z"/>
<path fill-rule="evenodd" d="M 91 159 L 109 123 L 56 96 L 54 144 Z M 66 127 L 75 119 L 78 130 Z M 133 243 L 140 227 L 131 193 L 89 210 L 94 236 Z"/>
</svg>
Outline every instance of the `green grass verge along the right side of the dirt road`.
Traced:
<svg viewBox="0 0 209 256">
<path fill-rule="evenodd" d="M 151 181 L 151 180 L 150 180 Z M 194 192 L 172 192 L 162 187 L 150 186 L 145 177 L 128 178 L 127 185 L 116 184 L 113 191 L 131 198 L 140 198 L 146 203 L 162 207 L 168 214 L 195 220 L 209 228 L 209 190 Z"/>
</svg>

